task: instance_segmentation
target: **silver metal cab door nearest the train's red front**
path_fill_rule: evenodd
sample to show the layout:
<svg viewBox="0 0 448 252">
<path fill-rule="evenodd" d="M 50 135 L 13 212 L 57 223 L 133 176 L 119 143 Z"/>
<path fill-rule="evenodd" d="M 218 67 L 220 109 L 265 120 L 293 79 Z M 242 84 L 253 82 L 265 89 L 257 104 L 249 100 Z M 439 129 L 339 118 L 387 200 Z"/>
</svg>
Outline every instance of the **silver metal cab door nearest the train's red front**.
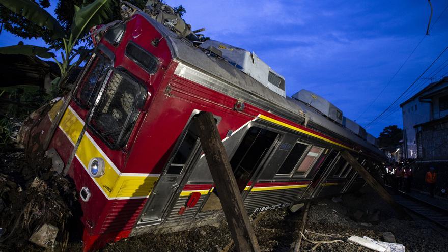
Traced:
<svg viewBox="0 0 448 252">
<path fill-rule="evenodd" d="M 194 114 L 197 114 L 196 110 L 193 112 Z M 193 120 L 194 117 L 191 117 L 178 138 L 174 151 L 150 194 L 141 222 L 151 225 L 163 221 L 167 211 L 170 210 L 172 201 L 179 192 L 183 179 L 187 177 L 189 168 L 199 158 L 201 152 L 199 134 Z"/>
</svg>

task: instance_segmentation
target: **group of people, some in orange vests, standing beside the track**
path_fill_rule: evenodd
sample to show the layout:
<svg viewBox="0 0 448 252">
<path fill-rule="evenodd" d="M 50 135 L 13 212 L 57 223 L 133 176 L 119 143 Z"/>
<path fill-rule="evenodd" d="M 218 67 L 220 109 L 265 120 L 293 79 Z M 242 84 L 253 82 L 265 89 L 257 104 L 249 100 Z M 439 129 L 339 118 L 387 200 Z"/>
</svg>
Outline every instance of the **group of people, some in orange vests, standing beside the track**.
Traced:
<svg viewBox="0 0 448 252">
<path fill-rule="evenodd" d="M 391 186 L 395 191 L 410 192 L 414 180 L 413 170 L 409 162 L 394 163 L 385 167 L 384 184 Z M 434 189 L 437 182 L 437 173 L 430 167 L 425 176 L 428 192 L 434 198 Z"/>
</svg>

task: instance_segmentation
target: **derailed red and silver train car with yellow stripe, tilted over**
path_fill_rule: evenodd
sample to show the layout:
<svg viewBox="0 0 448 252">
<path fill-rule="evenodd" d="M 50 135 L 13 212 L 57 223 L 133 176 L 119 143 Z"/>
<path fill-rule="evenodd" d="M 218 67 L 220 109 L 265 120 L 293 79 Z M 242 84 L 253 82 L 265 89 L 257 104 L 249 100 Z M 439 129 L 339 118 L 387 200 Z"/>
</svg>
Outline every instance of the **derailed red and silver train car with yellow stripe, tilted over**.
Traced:
<svg viewBox="0 0 448 252">
<path fill-rule="evenodd" d="M 215 116 L 248 213 L 363 186 L 342 150 L 370 171 L 385 160 L 331 103 L 286 97 L 285 80 L 255 54 L 198 46 L 139 10 L 97 38 L 71 96 L 31 133 L 45 135 L 62 113 L 48 152 L 79 192 L 85 250 L 223 216 L 192 124 L 201 111 Z"/>
</svg>

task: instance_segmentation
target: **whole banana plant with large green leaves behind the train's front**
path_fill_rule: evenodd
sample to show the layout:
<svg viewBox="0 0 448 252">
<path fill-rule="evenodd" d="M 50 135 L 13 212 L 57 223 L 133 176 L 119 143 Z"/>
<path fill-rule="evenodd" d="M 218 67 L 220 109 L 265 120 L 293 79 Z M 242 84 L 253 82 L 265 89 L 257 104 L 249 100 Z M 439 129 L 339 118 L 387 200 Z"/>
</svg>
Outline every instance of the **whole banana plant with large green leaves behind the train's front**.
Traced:
<svg viewBox="0 0 448 252">
<path fill-rule="evenodd" d="M 61 24 L 50 13 L 41 8 L 33 0 L 0 0 L 11 11 L 24 16 L 31 22 L 44 27 L 51 33 L 51 38 L 62 40 L 63 51 L 61 52 L 62 61 L 59 62 L 50 49 L 45 47 L 24 45 L 19 43 L 14 46 L 0 48 L 0 53 L 6 54 L 25 54 L 37 55 L 43 58 L 52 58 L 61 71 L 60 83 L 64 81 L 73 70 L 89 53 L 86 50 L 77 50 L 75 45 L 84 35 L 89 33 L 92 26 L 101 24 L 110 20 L 114 15 L 114 9 L 117 5 L 116 0 L 95 0 L 91 4 L 78 7 L 75 5 L 75 14 L 73 16 L 70 32 L 66 33 Z M 79 55 L 77 61 L 73 60 Z"/>
</svg>

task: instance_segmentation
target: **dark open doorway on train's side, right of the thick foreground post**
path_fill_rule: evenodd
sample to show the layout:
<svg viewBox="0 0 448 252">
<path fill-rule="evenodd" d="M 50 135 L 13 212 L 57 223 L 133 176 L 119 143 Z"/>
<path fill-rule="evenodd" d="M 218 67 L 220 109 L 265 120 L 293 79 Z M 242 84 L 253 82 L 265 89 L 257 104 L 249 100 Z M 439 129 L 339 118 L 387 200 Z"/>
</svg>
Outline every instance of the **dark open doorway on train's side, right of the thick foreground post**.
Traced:
<svg viewBox="0 0 448 252">
<path fill-rule="evenodd" d="M 230 164 L 240 192 L 254 175 L 262 159 L 277 138 L 277 133 L 251 127 L 236 150 Z"/>
</svg>

